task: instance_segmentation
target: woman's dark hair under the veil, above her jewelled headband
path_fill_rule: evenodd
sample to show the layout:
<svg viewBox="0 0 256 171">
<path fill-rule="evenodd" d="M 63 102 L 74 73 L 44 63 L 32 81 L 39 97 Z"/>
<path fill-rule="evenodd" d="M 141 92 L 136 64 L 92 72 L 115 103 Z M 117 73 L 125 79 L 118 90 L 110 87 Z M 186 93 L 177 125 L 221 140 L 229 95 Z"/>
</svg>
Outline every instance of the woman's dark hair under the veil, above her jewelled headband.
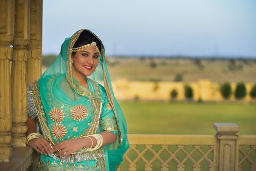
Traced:
<svg viewBox="0 0 256 171">
<path fill-rule="evenodd" d="M 78 48 L 83 45 L 91 44 L 91 42 L 93 42 L 93 41 L 96 42 L 97 47 L 99 48 L 99 51 L 101 52 L 101 42 L 99 41 L 99 39 L 94 34 L 92 34 L 90 31 L 83 30 L 81 32 L 81 34 L 79 35 L 78 39 L 76 40 L 73 48 Z"/>
</svg>

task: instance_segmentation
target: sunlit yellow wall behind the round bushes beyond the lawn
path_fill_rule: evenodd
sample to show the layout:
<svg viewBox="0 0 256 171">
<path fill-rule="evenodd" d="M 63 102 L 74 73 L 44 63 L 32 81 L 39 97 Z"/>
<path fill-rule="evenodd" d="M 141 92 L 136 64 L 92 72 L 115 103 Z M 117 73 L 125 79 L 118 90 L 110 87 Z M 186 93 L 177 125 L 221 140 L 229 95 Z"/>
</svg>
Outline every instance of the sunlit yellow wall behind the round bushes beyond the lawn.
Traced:
<svg viewBox="0 0 256 171">
<path fill-rule="evenodd" d="M 177 100 L 184 100 L 184 86 L 188 84 L 193 89 L 193 100 L 203 101 L 221 101 L 223 100 L 220 87 L 221 84 L 211 82 L 207 79 L 200 79 L 197 82 L 151 82 L 151 81 L 112 81 L 115 96 L 119 100 L 134 100 L 138 97 L 140 100 L 170 100 L 170 92 L 174 89 L 178 91 Z M 232 95 L 230 100 L 234 100 L 234 89 L 237 83 L 231 83 Z M 250 83 L 245 83 L 246 97 L 244 101 L 251 100 L 249 92 L 252 88 Z"/>
</svg>

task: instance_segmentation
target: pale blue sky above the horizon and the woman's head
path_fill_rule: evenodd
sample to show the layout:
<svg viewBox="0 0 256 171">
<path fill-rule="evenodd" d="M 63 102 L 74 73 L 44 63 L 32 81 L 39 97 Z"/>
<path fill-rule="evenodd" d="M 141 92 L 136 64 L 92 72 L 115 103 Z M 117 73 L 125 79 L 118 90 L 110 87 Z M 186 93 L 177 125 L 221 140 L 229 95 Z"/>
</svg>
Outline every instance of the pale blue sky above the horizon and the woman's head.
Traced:
<svg viewBox="0 0 256 171">
<path fill-rule="evenodd" d="M 42 53 L 89 29 L 106 55 L 256 58 L 254 0 L 44 1 Z"/>
</svg>

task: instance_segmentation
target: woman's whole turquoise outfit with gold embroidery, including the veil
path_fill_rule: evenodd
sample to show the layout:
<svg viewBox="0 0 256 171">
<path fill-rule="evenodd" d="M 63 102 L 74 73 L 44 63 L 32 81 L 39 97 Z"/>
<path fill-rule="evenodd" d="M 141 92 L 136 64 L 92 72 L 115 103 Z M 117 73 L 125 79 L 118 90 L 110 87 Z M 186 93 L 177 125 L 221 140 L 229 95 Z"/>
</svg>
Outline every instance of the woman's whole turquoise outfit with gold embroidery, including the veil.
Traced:
<svg viewBox="0 0 256 171">
<path fill-rule="evenodd" d="M 97 36 L 101 52 L 96 71 L 86 78 L 89 89 L 72 77 L 71 50 L 82 31 L 65 39 L 56 60 L 29 86 L 29 115 L 38 121 L 42 136 L 51 145 L 102 131 L 116 134 L 117 141 L 96 151 L 82 148 L 67 157 L 41 154 L 38 170 L 116 170 L 129 147 L 126 122 L 114 97 L 104 47 Z"/>
</svg>

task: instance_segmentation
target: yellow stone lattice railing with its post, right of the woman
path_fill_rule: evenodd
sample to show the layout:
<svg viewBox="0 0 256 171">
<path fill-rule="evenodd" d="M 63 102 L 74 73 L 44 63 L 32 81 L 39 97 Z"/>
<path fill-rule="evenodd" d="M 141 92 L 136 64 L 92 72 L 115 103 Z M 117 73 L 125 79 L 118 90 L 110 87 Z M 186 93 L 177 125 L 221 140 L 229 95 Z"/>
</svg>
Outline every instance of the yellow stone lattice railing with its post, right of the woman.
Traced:
<svg viewBox="0 0 256 171">
<path fill-rule="evenodd" d="M 216 135 L 128 135 L 119 170 L 256 170 L 256 135 L 215 123 Z"/>
</svg>

